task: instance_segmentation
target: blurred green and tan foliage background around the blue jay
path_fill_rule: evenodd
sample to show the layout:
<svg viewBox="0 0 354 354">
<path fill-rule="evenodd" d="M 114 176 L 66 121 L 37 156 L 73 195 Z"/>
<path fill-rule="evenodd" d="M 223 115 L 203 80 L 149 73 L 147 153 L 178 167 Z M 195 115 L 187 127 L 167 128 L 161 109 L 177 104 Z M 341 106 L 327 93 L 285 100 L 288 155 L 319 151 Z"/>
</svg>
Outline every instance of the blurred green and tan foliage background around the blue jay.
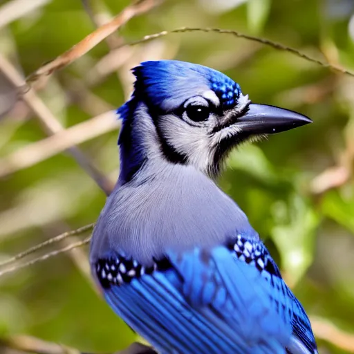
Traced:
<svg viewBox="0 0 354 354">
<path fill-rule="evenodd" d="M 304 304 L 319 352 L 354 353 L 354 77 L 214 32 L 127 45 L 181 26 L 227 28 L 354 70 L 354 1 L 146 2 L 118 32 L 29 90 L 24 77 L 131 3 L 0 0 L 0 353 L 110 353 L 137 339 L 97 294 L 87 246 L 4 272 L 70 248 L 89 231 L 4 262 L 96 220 L 102 187 L 109 193 L 119 171 L 112 111 L 129 97 L 129 69 L 161 58 L 216 68 L 253 102 L 313 119 L 232 152 L 220 185 L 248 214 Z"/>
</svg>

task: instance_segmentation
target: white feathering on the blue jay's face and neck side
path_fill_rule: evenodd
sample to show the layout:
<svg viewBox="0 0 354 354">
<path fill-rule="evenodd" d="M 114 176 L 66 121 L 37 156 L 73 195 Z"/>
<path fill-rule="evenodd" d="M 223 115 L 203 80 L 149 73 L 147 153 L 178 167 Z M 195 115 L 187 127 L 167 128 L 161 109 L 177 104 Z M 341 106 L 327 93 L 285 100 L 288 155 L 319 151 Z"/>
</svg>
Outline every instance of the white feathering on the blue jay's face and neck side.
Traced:
<svg viewBox="0 0 354 354">
<path fill-rule="evenodd" d="M 204 91 L 201 96 L 191 97 L 190 102 L 185 102 L 184 108 L 186 109 L 189 104 L 207 107 L 208 102 L 214 106 L 221 104 L 216 93 L 208 90 Z M 157 118 L 158 127 L 152 120 L 141 119 L 140 116 L 134 124 L 136 138 L 141 139 L 142 145 L 149 151 L 150 158 L 160 158 L 166 153 L 161 149 L 161 140 L 163 140 L 172 149 L 172 153 L 176 151 L 183 159 L 185 158 L 187 165 L 192 165 L 207 176 L 214 178 L 219 172 L 225 154 L 232 148 L 232 140 L 230 140 L 230 147 L 223 145 L 223 149 L 225 149 L 225 153 L 223 153 L 220 150 L 221 141 L 232 139 L 240 133 L 241 128 L 237 124 L 233 124 L 232 120 L 234 120 L 234 115 L 242 112 L 248 103 L 248 96 L 240 95 L 239 103 L 234 109 L 225 112 L 223 117 L 210 111 L 209 118 L 201 121 L 190 118 L 187 111 L 183 111 L 180 116 L 175 113 L 160 115 Z M 139 115 L 149 114 L 144 104 L 138 110 Z M 223 120 L 225 124 L 228 115 L 230 115 L 230 125 L 226 124 L 225 127 L 214 131 L 220 120 Z M 145 133 L 142 134 L 142 131 Z M 169 160 L 169 156 L 165 156 L 165 158 Z"/>
</svg>

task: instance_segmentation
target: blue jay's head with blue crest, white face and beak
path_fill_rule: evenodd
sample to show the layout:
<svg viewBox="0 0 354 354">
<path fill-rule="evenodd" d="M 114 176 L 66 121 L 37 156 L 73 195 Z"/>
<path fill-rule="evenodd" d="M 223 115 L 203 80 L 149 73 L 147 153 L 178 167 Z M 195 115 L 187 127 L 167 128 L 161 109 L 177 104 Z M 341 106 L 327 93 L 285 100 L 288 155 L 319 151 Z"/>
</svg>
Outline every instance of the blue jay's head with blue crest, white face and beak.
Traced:
<svg viewBox="0 0 354 354">
<path fill-rule="evenodd" d="M 251 103 L 239 84 L 206 66 L 150 61 L 133 73 L 133 96 L 118 109 L 123 118 L 120 145 L 124 126 L 149 119 L 157 137 L 151 143 L 158 143 L 163 158 L 193 165 L 209 176 L 218 174 L 227 152 L 241 142 L 311 122 L 293 111 Z M 148 114 L 134 117 L 141 104 Z"/>
</svg>

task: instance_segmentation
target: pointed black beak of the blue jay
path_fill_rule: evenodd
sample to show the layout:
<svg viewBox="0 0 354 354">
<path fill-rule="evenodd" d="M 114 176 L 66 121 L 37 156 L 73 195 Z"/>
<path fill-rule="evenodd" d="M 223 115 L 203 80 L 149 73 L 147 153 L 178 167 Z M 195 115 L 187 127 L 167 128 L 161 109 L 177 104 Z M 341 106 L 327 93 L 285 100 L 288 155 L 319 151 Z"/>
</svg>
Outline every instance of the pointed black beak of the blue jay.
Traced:
<svg viewBox="0 0 354 354">
<path fill-rule="evenodd" d="M 251 103 L 248 111 L 237 118 L 243 133 L 273 134 L 301 127 L 313 121 L 305 115 L 266 104 Z"/>
</svg>

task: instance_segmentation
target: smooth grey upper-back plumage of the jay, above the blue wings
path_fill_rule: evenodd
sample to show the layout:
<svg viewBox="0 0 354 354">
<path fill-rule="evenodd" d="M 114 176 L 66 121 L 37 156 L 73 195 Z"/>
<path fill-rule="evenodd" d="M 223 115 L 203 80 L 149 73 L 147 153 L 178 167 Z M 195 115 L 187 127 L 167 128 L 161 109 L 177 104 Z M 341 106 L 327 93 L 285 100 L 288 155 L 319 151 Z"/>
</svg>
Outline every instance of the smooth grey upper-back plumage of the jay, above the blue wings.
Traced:
<svg viewBox="0 0 354 354">
<path fill-rule="evenodd" d="M 194 167 L 166 164 L 140 173 L 107 198 L 91 243 L 91 261 L 111 251 L 148 265 L 166 250 L 212 247 L 237 233 L 258 234 L 247 216 Z"/>
</svg>

